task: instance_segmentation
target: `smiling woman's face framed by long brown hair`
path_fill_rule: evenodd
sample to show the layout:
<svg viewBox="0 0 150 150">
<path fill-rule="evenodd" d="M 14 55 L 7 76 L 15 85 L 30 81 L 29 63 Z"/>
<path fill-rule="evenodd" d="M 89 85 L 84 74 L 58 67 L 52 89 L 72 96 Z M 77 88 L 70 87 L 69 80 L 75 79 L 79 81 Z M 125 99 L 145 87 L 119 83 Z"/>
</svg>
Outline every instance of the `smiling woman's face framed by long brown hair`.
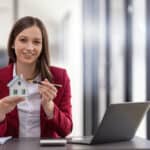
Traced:
<svg viewBox="0 0 150 150">
<path fill-rule="evenodd" d="M 36 64 L 42 51 L 42 33 L 37 26 L 31 26 L 20 32 L 12 46 L 16 61 L 21 64 Z"/>
</svg>

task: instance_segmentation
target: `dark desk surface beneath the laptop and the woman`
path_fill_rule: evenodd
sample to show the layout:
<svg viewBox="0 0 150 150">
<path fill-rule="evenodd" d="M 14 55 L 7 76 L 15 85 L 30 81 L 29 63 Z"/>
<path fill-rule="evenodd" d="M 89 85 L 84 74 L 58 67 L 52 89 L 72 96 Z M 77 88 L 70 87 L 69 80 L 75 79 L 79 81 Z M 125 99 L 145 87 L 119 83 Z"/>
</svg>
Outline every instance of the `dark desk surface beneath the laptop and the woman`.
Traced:
<svg viewBox="0 0 150 150">
<path fill-rule="evenodd" d="M 12 139 L 7 143 L 0 145 L 0 150 L 121 150 L 121 149 L 149 149 L 150 141 L 144 140 L 142 138 L 134 138 L 129 142 L 119 142 L 101 145 L 77 145 L 77 144 L 67 144 L 66 146 L 49 146 L 41 147 L 39 144 L 39 139 L 36 138 L 20 138 Z"/>
</svg>

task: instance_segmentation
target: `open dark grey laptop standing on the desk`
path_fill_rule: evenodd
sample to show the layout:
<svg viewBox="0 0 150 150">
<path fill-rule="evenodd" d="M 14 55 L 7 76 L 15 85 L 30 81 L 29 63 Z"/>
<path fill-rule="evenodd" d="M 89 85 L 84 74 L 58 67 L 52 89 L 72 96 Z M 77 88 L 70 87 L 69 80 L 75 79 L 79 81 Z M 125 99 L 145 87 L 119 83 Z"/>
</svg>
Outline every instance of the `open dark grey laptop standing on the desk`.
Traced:
<svg viewBox="0 0 150 150">
<path fill-rule="evenodd" d="M 94 136 L 72 137 L 68 143 L 94 145 L 129 141 L 149 108 L 148 102 L 110 104 Z"/>
</svg>

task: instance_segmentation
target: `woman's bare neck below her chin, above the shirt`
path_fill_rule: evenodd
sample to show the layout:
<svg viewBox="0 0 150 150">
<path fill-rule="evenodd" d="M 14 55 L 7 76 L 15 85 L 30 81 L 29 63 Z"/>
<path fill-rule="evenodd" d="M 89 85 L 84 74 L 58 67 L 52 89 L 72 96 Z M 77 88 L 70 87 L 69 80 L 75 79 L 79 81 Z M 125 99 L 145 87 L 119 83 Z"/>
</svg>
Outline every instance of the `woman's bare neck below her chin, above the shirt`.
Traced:
<svg viewBox="0 0 150 150">
<path fill-rule="evenodd" d="M 36 64 L 21 64 L 16 62 L 16 74 L 23 75 L 25 80 L 31 80 L 35 77 Z"/>
</svg>

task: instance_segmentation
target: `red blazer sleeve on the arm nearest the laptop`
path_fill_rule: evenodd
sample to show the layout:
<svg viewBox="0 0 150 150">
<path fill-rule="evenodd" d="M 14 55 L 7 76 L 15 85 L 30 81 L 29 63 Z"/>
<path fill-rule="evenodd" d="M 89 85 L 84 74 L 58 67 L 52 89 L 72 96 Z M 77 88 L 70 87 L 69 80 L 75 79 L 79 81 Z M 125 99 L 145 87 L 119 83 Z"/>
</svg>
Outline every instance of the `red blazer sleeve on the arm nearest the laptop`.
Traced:
<svg viewBox="0 0 150 150">
<path fill-rule="evenodd" d="M 70 79 L 66 70 L 63 73 L 63 92 L 59 105 L 54 103 L 54 116 L 47 119 L 49 127 L 56 131 L 61 137 L 65 137 L 72 131 L 72 106 Z"/>
</svg>

